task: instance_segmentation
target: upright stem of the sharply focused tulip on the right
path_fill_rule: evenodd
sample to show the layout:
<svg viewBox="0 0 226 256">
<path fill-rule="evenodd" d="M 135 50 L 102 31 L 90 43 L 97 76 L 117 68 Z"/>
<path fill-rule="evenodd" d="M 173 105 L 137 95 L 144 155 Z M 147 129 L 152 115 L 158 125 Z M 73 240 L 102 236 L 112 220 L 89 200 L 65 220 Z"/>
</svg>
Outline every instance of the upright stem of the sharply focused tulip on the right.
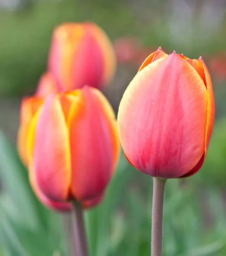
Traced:
<svg viewBox="0 0 226 256">
<path fill-rule="evenodd" d="M 153 177 L 152 254 L 163 255 L 163 199 L 166 179 Z"/>
</svg>

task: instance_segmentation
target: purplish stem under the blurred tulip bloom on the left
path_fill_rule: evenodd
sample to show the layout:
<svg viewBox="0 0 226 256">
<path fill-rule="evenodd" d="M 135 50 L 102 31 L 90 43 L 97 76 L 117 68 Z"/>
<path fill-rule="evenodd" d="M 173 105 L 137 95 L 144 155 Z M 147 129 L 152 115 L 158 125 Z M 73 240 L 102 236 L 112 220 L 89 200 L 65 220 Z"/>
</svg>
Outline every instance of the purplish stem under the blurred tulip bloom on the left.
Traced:
<svg viewBox="0 0 226 256">
<path fill-rule="evenodd" d="M 73 233 L 76 256 L 88 256 L 86 234 L 83 220 L 83 207 L 80 203 L 72 202 Z"/>
</svg>

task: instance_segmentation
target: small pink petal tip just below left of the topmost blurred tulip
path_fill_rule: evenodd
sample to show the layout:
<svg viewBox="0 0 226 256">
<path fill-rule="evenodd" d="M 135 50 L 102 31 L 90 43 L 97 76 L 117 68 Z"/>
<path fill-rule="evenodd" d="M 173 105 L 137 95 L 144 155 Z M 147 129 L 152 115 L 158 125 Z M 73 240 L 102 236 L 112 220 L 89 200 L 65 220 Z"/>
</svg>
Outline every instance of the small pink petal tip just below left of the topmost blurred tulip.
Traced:
<svg viewBox="0 0 226 256">
<path fill-rule="evenodd" d="M 57 81 L 54 76 L 47 72 L 44 73 L 37 85 L 37 90 L 35 95 L 40 98 L 46 98 L 50 93 L 57 92 Z"/>
</svg>

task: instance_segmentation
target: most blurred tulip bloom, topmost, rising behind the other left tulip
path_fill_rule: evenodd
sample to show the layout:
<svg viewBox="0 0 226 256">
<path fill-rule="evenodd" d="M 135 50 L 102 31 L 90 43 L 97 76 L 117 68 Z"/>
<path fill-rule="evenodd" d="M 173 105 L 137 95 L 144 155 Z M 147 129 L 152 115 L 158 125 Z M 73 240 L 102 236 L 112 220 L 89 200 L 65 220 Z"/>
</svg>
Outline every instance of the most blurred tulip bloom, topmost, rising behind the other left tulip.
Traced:
<svg viewBox="0 0 226 256">
<path fill-rule="evenodd" d="M 96 24 L 64 23 L 54 29 L 48 69 L 58 90 L 84 85 L 100 90 L 112 80 L 116 58 L 106 33 Z"/>
</svg>

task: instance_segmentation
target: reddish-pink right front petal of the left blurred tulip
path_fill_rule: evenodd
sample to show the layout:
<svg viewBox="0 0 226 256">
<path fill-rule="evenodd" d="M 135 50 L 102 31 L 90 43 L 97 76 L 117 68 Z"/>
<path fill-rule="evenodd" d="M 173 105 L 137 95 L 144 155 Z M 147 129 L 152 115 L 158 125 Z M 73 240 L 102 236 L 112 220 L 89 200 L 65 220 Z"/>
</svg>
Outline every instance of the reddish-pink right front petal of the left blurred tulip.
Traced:
<svg viewBox="0 0 226 256">
<path fill-rule="evenodd" d="M 92 87 L 72 105 L 68 127 L 72 158 L 71 193 L 78 201 L 103 194 L 112 177 L 112 131 Z"/>
</svg>

